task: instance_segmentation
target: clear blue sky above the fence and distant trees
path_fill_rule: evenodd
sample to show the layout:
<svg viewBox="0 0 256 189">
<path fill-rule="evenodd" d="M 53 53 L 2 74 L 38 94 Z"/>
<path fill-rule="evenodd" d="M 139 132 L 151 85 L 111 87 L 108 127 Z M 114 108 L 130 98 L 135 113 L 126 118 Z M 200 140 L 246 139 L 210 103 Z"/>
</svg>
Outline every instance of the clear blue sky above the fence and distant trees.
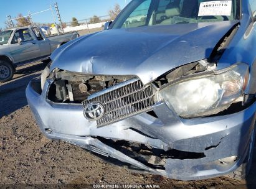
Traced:
<svg viewBox="0 0 256 189">
<path fill-rule="evenodd" d="M 131 0 L 126 0 L 126 3 Z M 125 0 L 0 0 L 0 28 L 4 29 L 6 16 L 11 15 L 12 18 L 17 17 L 19 13 L 23 16 L 31 13 L 44 11 L 49 9 L 50 4 L 54 9 L 54 2 L 59 6 L 62 22 L 72 21 L 72 17 L 78 20 L 87 19 L 93 15 L 107 16 L 108 11 L 120 4 L 121 9 L 125 7 Z M 57 18 L 54 9 L 54 16 Z M 54 19 L 50 11 L 42 12 L 32 16 L 34 22 L 53 23 Z"/>
</svg>

